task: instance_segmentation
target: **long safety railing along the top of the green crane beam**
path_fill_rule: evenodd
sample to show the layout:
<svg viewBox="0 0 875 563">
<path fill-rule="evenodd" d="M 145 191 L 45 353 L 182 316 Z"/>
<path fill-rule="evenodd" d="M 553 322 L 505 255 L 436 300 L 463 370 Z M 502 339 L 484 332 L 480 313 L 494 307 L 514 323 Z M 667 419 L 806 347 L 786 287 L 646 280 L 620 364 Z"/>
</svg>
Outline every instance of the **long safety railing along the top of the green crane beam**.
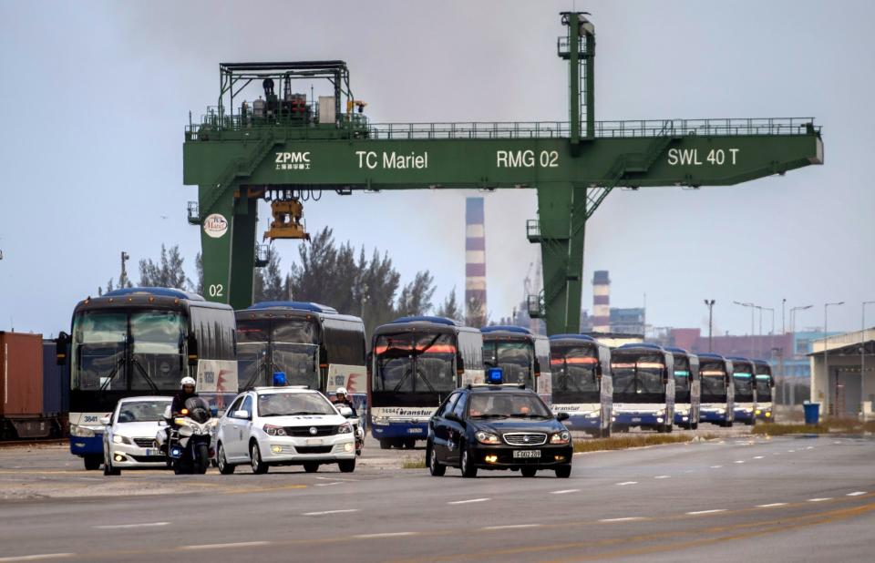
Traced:
<svg viewBox="0 0 875 563">
<path fill-rule="evenodd" d="M 373 138 L 373 139 L 466 139 L 466 138 L 568 138 L 567 121 L 506 121 L 447 123 L 369 123 L 365 116 L 343 116 L 337 124 L 303 126 L 281 119 L 207 114 L 200 124 L 186 128 L 188 140 L 222 138 L 223 132 L 287 128 L 289 138 Z M 820 132 L 814 118 L 721 118 L 721 119 L 639 119 L 596 121 L 596 138 L 726 137 L 759 135 L 813 135 Z M 209 132 L 209 135 L 201 135 Z M 282 134 L 281 134 L 282 135 Z"/>
</svg>

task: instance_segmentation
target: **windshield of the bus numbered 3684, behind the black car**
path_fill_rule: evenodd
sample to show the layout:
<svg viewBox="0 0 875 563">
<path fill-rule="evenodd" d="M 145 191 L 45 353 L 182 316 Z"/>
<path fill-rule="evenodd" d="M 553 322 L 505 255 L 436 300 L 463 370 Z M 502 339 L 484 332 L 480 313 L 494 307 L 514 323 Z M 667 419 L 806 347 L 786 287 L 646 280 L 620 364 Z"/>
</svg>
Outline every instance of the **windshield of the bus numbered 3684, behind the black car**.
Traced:
<svg viewBox="0 0 875 563">
<path fill-rule="evenodd" d="M 446 395 L 457 388 L 452 334 L 381 334 L 376 339 L 374 392 Z"/>
</svg>

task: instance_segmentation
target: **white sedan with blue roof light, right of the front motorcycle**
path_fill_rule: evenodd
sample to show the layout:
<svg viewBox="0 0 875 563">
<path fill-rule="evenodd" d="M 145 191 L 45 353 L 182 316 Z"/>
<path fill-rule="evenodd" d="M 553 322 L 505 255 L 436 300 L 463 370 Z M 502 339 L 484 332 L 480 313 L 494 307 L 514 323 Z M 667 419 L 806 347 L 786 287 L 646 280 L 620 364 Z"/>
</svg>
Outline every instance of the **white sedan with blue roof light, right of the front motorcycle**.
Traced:
<svg viewBox="0 0 875 563">
<path fill-rule="evenodd" d="M 314 473 L 325 464 L 355 471 L 353 425 L 323 394 L 306 388 L 256 387 L 238 395 L 219 421 L 217 444 L 225 475 L 242 464 L 259 474 L 270 466 L 304 466 Z"/>
</svg>

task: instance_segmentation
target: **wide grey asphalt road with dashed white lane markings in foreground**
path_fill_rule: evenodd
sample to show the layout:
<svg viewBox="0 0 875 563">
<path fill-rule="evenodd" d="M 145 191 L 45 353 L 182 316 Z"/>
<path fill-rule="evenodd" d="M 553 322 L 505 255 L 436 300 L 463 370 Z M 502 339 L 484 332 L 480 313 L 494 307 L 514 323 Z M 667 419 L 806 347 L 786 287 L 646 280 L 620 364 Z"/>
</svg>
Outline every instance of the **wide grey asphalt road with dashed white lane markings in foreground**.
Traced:
<svg viewBox="0 0 875 563">
<path fill-rule="evenodd" d="M 602 452 L 575 456 L 570 479 L 435 478 L 369 455 L 352 475 L 103 477 L 61 448 L 4 450 L 0 561 L 841 561 L 875 550 L 870 437 Z"/>
</svg>

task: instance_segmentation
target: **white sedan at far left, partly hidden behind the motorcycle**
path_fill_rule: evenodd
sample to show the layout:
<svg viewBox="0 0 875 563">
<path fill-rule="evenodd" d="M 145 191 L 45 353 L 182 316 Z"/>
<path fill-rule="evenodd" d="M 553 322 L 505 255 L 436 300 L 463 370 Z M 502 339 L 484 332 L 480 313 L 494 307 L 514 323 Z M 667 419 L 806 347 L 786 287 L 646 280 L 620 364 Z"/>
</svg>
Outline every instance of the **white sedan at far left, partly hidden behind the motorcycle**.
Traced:
<svg viewBox="0 0 875 563">
<path fill-rule="evenodd" d="M 128 397 L 116 404 L 112 415 L 100 422 L 103 433 L 103 474 L 120 475 L 122 469 L 166 467 L 167 458 L 155 444 L 170 397 Z"/>
</svg>

